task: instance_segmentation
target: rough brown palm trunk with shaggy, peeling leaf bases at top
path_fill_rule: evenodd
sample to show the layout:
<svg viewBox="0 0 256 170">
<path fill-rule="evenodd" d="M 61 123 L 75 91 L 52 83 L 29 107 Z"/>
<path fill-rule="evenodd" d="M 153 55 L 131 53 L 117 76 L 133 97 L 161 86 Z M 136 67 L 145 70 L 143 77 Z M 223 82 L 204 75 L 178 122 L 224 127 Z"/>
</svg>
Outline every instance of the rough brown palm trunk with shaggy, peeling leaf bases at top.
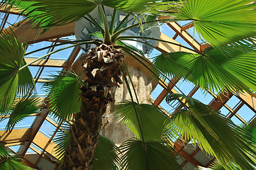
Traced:
<svg viewBox="0 0 256 170">
<path fill-rule="evenodd" d="M 92 168 L 94 153 L 102 127 L 106 105 L 112 101 L 110 91 L 123 82 L 120 79 L 123 52 L 113 46 L 101 45 L 91 49 L 84 62 L 86 79 L 81 86 L 81 111 L 75 115 L 72 135 L 61 169 Z"/>
</svg>

